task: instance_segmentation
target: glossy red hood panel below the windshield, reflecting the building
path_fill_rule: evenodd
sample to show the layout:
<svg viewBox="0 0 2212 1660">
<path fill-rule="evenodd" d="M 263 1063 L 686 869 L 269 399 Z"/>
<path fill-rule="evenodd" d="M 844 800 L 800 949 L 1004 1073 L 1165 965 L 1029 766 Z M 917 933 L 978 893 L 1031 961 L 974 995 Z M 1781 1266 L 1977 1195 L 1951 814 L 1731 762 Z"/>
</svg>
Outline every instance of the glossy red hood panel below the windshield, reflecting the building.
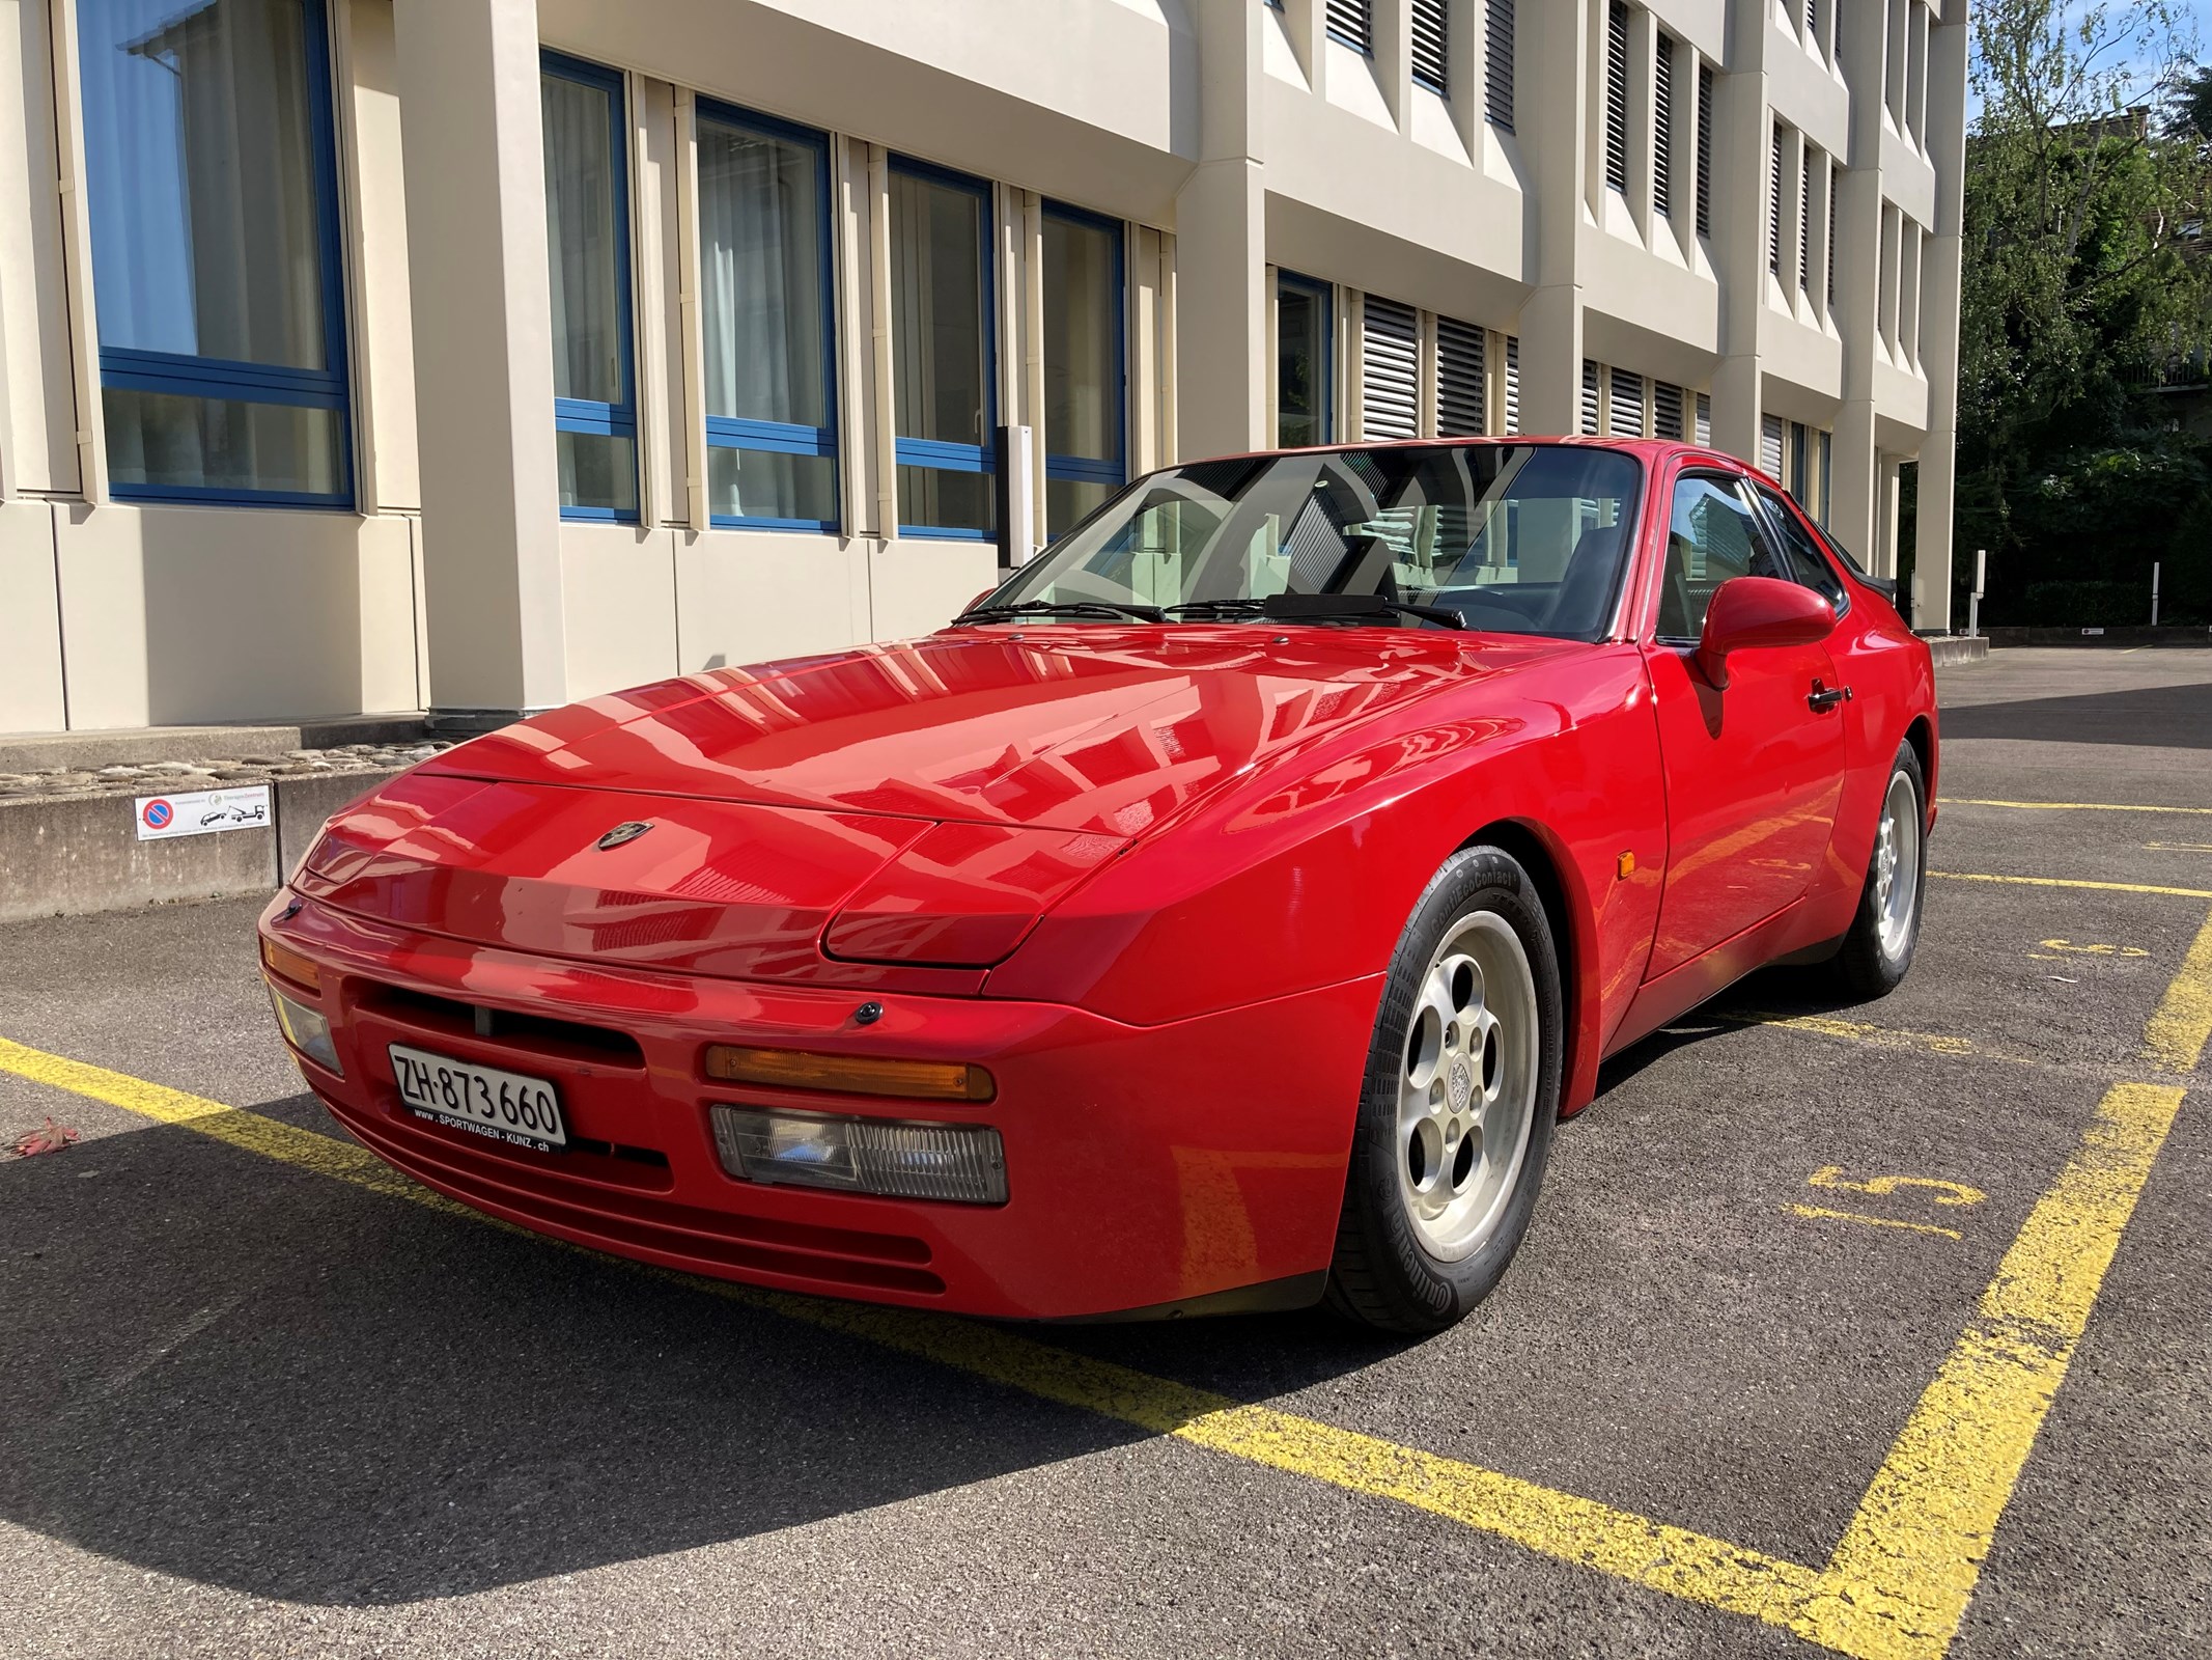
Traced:
<svg viewBox="0 0 2212 1660">
<path fill-rule="evenodd" d="M 949 631 L 595 697 L 427 770 L 1139 837 L 1254 761 L 1562 649 L 1400 629 Z"/>
</svg>

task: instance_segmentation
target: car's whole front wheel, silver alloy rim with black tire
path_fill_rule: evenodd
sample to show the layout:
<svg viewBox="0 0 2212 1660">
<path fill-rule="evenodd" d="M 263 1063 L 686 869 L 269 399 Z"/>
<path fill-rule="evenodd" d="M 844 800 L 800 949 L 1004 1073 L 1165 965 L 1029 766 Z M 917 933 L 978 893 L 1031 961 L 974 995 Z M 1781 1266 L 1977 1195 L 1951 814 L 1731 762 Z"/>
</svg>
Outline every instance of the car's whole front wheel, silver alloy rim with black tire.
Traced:
<svg viewBox="0 0 2212 1660">
<path fill-rule="evenodd" d="M 1329 1304 L 1433 1332 L 1504 1275 L 1559 1113 L 1559 958 L 1502 848 L 1429 883 L 1391 958 L 1367 1054 Z"/>
</svg>

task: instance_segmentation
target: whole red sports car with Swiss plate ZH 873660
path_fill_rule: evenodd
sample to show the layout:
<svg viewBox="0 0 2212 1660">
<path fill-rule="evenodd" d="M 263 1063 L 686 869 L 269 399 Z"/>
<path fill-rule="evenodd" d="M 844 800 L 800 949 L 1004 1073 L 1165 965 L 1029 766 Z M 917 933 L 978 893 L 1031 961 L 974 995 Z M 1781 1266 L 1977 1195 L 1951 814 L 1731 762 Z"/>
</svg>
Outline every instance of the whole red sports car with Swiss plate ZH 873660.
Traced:
<svg viewBox="0 0 2212 1660">
<path fill-rule="evenodd" d="M 1259 454 L 1139 478 L 927 640 L 425 761 L 261 956 L 338 1122 L 526 1228 L 1433 1330 L 1604 1056 L 1778 958 L 1898 983 L 1933 784 L 1927 646 L 1736 460 Z"/>
</svg>

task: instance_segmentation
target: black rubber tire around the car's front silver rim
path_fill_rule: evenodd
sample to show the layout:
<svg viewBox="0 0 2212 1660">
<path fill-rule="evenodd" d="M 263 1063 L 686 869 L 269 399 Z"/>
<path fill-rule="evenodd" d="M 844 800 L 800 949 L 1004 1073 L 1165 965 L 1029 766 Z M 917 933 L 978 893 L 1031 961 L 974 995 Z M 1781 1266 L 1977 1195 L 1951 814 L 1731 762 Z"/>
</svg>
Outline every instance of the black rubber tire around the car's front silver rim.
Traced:
<svg viewBox="0 0 2212 1660">
<path fill-rule="evenodd" d="M 1526 1098 L 1526 1142 L 1517 1166 L 1500 1177 L 1509 1186 L 1491 1208 L 1489 1231 L 1469 1244 L 1467 1255 L 1447 1259 L 1425 1244 L 1422 1224 L 1411 1211 L 1413 1200 L 1400 1177 L 1407 1160 L 1400 1078 L 1407 1069 L 1416 1003 L 1431 963 L 1444 943 L 1482 912 L 1502 921 L 1526 956 L 1535 1031 L 1526 1036 L 1526 1049 L 1515 1051 L 1515 1067 L 1524 1069 L 1515 1076 L 1533 1082 L 1533 1096 Z M 1336 1257 L 1329 1266 L 1327 1301 L 1336 1313 L 1389 1332 L 1438 1332 L 1491 1295 L 1528 1231 L 1528 1215 L 1544 1184 L 1551 1133 L 1559 1118 L 1559 1071 L 1566 1047 L 1562 1011 L 1559 954 L 1528 872 L 1502 848 L 1467 848 L 1453 854 L 1413 905 L 1413 916 L 1391 954 L 1383 1007 L 1376 1014 L 1360 1116 L 1352 1135 L 1352 1164 L 1345 1173 L 1345 1208 L 1336 1224 Z M 1484 1060 L 1486 1056 L 1489 1051 Z"/>
</svg>

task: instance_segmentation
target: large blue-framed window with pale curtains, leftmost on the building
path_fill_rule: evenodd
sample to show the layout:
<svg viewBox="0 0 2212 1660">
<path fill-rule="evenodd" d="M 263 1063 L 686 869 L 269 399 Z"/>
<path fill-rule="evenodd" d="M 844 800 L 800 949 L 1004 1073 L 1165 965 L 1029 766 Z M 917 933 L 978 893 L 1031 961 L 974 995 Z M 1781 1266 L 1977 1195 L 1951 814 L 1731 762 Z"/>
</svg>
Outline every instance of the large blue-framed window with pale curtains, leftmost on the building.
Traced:
<svg viewBox="0 0 2212 1660">
<path fill-rule="evenodd" d="M 352 507 L 323 0 L 82 0 L 117 500 Z"/>
</svg>

